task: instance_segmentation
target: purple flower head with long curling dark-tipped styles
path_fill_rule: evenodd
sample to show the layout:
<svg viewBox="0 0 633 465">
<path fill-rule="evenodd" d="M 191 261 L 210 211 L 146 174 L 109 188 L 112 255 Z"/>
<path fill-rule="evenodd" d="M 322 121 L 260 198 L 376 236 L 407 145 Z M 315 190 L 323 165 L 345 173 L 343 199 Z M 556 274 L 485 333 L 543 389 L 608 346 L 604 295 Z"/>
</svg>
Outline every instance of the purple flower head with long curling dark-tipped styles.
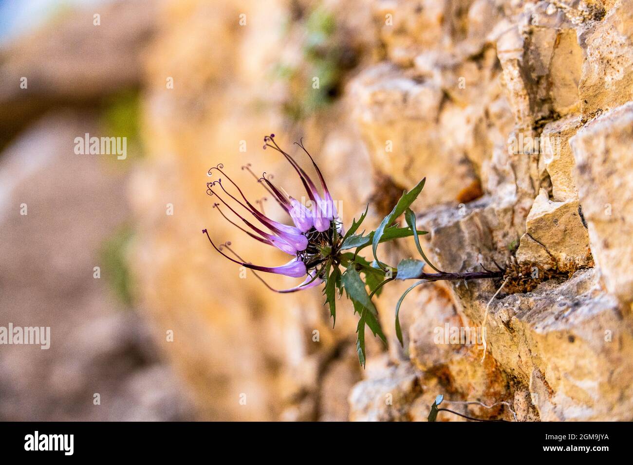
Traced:
<svg viewBox="0 0 633 465">
<path fill-rule="evenodd" d="M 277 145 L 274 134 L 264 137 L 264 142 L 264 149 L 266 149 L 266 147 L 271 147 L 272 149 L 280 152 L 280 154 L 282 154 L 291 164 L 292 168 L 294 168 L 301 180 L 301 183 L 303 183 L 303 186 L 306 189 L 311 205 L 306 206 L 301 204 L 301 202 L 296 200 L 294 197 L 288 195 L 284 189 L 280 189 L 275 186 L 269 178 L 266 178 L 266 173 L 264 173 L 261 178 L 258 178 L 249 168 L 249 164 L 242 166 L 242 170 L 248 170 L 249 173 L 253 174 L 254 177 L 258 179 L 258 182 L 262 183 L 266 191 L 268 191 L 268 194 L 270 194 L 273 199 L 277 201 L 279 206 L 289 215 L 289 218 L 292 220 L 292 223 L 294 223 L 294 226 L 274 221 L 263 213 L 263 209 L 255 208 L 246 198 L 239 186 L 223 171 L 223 164 L 218 164 L 215 168 L 211 168 L 208 174 L 211 176 L 213 170 L 218 171 L 230 183 L 230 186 L 232 186 L 231 190 L 236 191 L 235 195 L 225 189 L 225 185 L 222 183 L 222 178 L 207 183 L 207 194 L 215 195 L 218 197 L 220 202 L 222 202 L 223 205 L 215 203 L 213 204 L 213 207 L 218 209 L 220 214 L 222 214 L 229 223 L 242 230 L 242 232 L 248 234 L 251 238 L 258 240 L 263 244 L 277 247 L 280 251 L 294 256 L 294 259 L 282 266 L 258 266 L 247 263 L 239 255 L 232 251 L 232 249 L 230 249 L 230 242 L 226 242 L 218 247 L 215 245 L 213 240 L 211 240 L 211 237 L 206 229 L 203 230 L 203 233 L 206 234 L 209 242 L 211 242 L 211 245 L 213 245 L 216 251 L 220 252 L 220 254 L 227 257 L 230 261 L 241 264 L 246 268 L 250 268 L 254 271 L 264 271 L 266 273 L 291 276 L 293 278 L 300 278 L 301 276 L 307 275 L 306 280 L 301 285 L 287 290 L 273 289 L 264 282 L 266 287 L 271 290 L 275 290 L 275 292 L 295 292 L 297 290 L 315 287 L 323 282 L 322 277 L 318 276 L 318 270 L 316 268 L 326 261 L 323 251 L 327 251 L 328 247 L 332 245 L 335 235 L 341 232 L 341 223 L 338 221 L 338 213 L 334 205 L 334 200 L 327 189 L 321 170 L 319 170 L 318 166 L 316 166 L 316 163 L 310 153 L 305 149 L 305 147 L 303 147 L 303 141 L 301 143 L 295 142 L 295 144 L 301 147 L 303 151 L 308 154 L 308 157 L 310 157 L 321 183 L 323 191 L 322 194 L 294 158 Z M 242 214 L 238 213 L 229 204 L 229 202 L 234 204 L 235 208 L 240 209 L 241 211 L 245 210 L 246 214 L 244 214 L 244 216 L 248 217 L 250 221 L 242 216 Z M 230 220 L 229 217 L 226 216 L 220 209 L 222 206 L 229 209 L 245 227 L 242 227 Z M 225 252 L 223 252 L 224 247 L 227 247 L 235 258 L 225 254 Z M 256 276 L 261 280 L 260 276 Z"/>
</svg>

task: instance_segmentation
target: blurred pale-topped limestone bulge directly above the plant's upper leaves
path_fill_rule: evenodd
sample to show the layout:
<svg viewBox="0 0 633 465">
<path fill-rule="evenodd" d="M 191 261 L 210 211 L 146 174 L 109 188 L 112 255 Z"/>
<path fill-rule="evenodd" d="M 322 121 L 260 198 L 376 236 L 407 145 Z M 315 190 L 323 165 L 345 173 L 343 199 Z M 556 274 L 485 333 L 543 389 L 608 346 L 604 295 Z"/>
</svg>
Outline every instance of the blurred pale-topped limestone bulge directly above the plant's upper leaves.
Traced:
<svg viewBox="0 0 633 465">
<path fill-rule="evenodd" d="M 379 65 L 363 72 L 351 92 L 374 166 L 408 189 L 427 177 L 427 195 L 421 202 L 454 199 L 465 180 L 474 179 L 468 163 L 444 151 L 434 137 L 444 99 L 437 84 L 417 82 L 393 66 Z"/>
</svg>

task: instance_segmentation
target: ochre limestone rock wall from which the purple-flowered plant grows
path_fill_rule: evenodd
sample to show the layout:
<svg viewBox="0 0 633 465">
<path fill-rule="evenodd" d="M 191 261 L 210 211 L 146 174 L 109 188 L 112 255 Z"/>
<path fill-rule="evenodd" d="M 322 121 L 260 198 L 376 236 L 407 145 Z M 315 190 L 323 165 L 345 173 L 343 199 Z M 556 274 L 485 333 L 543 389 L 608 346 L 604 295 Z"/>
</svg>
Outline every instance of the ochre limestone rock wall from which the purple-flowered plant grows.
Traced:
<svg viewBox="0 0 633 465">
<path fill-rule="evenodd" d="M 624 0 L 165 2 L 134 262 L 203 417 L 424 421 L 444 394 L 479 418 L 632 419 L 632 66 Z M 401 308 L 404 348 L 403 288 L 385 290 L 389 348 L 368 342 L 359 369 L 351 307 L 333 329 L 318 290 L 272 295 L 199 234 L 280 263 L 225 228 L 204 188 L 223 163 L 263 194 L 239 170 L 252 163 L 298 189 L 261 151 L 270 132 L 304 137 L 346 223 L 370 202 L 377 224 L 427 177 L 415 208 L 432 259 L 515 279 L 418 287 Z M 453 341 L 451 328 L 485 337 Z"/>
</svg>

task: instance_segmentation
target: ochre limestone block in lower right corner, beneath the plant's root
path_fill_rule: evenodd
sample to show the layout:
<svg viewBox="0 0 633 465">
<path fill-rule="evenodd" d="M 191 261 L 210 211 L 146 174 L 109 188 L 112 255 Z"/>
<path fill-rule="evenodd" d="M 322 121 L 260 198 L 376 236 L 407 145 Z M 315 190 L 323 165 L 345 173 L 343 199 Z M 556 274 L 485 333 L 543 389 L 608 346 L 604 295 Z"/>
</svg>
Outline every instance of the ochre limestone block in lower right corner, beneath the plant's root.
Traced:
<svg viewBox="0 0 633 465">
<path fill-rule="evenodd" d="M 484 306 L 480 301 L 464 311 L 476 318 Z M 505 308 L 510 319 L 501 313 Z M 630 419 L 623 399 L 630 399 L 632 367 L 618 354 L 633 348 L 633 332 L 618 302 L 600 290 L 594 270 L 509 295 L 490 311 L 490 355 L 529 385 L 542 421 Z"/>
</svg>

